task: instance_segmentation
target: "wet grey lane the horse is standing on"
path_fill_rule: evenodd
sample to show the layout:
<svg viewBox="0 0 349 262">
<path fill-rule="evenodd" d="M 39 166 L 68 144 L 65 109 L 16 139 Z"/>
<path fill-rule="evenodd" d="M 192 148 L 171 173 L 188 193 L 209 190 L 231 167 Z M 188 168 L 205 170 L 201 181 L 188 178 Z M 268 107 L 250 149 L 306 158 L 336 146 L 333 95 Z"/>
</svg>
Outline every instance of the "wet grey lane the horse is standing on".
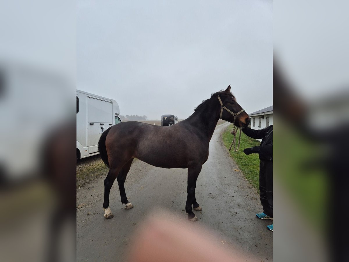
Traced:
<svg viewBox="0 0 349 262">
<path fill-rule="evenodd" d="M 266 228 L 272 221 L 255 216 L 262 210 L 259 196 L 222 143 L 221 133 L 227 126 L 228 123 L 217 125 L 209 158 L 196 183 L 196 200 L 203 209 L 194 211 L 197 222 L 189 221 L 184 211 L 187 169 L 157 168 L 134 161 L 125 183 L 126 195 L 134 208 L 123 209 L 115 183 L 110 192 L 112 219 L 103 218 L 104 177 L 77 188 L 77 261 L 124 261 L 137 228 L 149 214 L 160 209 L 193 227 L 207 227 L 224 249 L 238 249 L 251 261 L 272 261 L 273 232 Z"/>
</svg>

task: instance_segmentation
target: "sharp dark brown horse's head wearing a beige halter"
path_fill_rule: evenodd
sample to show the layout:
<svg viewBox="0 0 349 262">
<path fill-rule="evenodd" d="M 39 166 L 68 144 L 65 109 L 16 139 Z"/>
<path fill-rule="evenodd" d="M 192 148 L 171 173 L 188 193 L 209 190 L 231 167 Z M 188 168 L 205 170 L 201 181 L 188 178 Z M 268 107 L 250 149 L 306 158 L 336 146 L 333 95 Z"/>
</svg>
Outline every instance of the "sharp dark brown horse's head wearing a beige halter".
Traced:
<svg viewBox="0 0 349 262">
<path fill-rule="evenodd" d="M 236 102 L 235 97 L 230 92 L 230 85 L 224 92 L 217 96 L 217 102 L 220 103 L 220 118 L 234 123 L 236 126 L 248 126 L 250 117 L 245 110 Z"/>
</svg>

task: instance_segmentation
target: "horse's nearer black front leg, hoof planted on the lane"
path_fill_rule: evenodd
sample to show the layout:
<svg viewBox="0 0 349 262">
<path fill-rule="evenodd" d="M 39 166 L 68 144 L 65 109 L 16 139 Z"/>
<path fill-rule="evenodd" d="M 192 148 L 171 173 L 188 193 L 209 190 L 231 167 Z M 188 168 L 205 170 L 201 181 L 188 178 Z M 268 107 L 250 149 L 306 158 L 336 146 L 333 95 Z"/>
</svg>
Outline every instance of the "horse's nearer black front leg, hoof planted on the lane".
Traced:
<svg viewBox="0 0 349 262">
<path fill-rule="evenodd" d="M 198 218 L 193 213 L 192 203 L 195 204 L 194 210 L 198 210 L 197 208 L 200 207 L 200 205 L 196 202 L 196 199 L 195 199 L 195 187 L 196 187 L 196 179 L 198 178 L 200 171 L 201 171 L 201 165 L 192 165 L 188 167 L 188 186 L 187 186 L 188 196 L 187 196 L 187 202 L 185 204 L 185 211 L 188 213 L 188 219 L 191 221 L 198 220 Z"/>
</svg>

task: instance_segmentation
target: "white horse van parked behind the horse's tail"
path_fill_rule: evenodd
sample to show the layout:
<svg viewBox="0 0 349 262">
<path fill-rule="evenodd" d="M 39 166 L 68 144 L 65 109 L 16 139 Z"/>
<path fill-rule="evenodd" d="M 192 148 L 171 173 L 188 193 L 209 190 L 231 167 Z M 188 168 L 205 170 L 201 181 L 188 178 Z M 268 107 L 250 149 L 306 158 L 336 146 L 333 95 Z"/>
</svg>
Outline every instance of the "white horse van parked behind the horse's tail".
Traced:
<svg viewBox="0 0 349 262">
<path fill-rule="evenodd" d="M 99 154 L 104 130 L 121 123 L 118 103 L 106 97 L 76 90 L 76 158 Z"/>
</svg>

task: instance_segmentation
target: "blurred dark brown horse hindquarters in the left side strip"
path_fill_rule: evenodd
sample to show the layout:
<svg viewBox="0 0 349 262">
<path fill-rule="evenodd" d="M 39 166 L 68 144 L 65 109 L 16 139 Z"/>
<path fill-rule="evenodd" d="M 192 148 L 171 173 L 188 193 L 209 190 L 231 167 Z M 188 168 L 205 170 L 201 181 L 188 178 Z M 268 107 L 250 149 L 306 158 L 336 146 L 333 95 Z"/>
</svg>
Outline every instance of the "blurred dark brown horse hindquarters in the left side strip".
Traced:
<svg viewBox="0 0 349 262">
<path fill-rule="evenodd" d="M 60 240 L 67 223 L 70 223 L 73 230 L 70 236 L 76 239 L 76 154 L 75 150 L 72 150 L 75 130 L 75 122 L 60 126 L 44 143 L 45 180 L 57 197 L 49 218 L 48 261 L 61 261 Z M 70 252 L 74 255 L 76 248 L 75 245 L 72 247 L 74 250 Z"/>
</svg>

